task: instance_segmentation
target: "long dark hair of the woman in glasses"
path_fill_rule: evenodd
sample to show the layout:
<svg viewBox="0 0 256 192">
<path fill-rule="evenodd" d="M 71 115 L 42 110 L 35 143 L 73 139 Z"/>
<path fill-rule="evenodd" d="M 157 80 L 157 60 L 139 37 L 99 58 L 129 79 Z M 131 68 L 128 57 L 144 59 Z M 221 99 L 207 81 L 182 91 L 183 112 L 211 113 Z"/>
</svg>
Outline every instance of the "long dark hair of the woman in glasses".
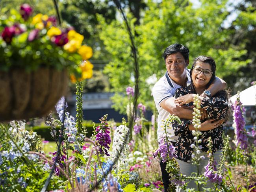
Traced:
<svg viewBox="0 0 256 192">
<path fill-rule="evenodd" d="M 191 85 L 192 85 L 192 91 L 195 92 L 195 87 L 193 85 L 193 80 L 192 80 L 192 71 L 195 67 L 195 65 L 197 64 L 197 62 L 202 62 L 202 63 L 208 63 L 211 66 L 211 71 L 212 71 L 212 76 L 211 79 L 209 81 L 209 83 L 206 85 L 206 89 L 208 89 L 208 87 L 211 85 L 211 83 L 213 82 L 213 80 L 215 79 L 215 71 L 216 71 L 216 63 L 214 61 L 214 59 L 212 57 L 208 57 L 208 56 L 204 56 L 204 55 L 200 55 L 198 57 L 195 58 L 195 60 L 193 61 L 193 65 L 191 67 L 190 70 L 190 77 L 191 77 Z M 196 93 L 196 92 L 195 92 Z M 215 94 L 215 96 L 224 96 L 226 98 L 226 102 L 228 103 L 228 94 L 230 93 L 230 90 L 221 90 L 219 92 L 217 92 Z M 228 120 L 228 117 L 230 115 L 230 107 L 228 107 L 228 111 L 226 113 L 227 115 L 224 118 L 224 121 L 226 122 Z"/>
</svg>

